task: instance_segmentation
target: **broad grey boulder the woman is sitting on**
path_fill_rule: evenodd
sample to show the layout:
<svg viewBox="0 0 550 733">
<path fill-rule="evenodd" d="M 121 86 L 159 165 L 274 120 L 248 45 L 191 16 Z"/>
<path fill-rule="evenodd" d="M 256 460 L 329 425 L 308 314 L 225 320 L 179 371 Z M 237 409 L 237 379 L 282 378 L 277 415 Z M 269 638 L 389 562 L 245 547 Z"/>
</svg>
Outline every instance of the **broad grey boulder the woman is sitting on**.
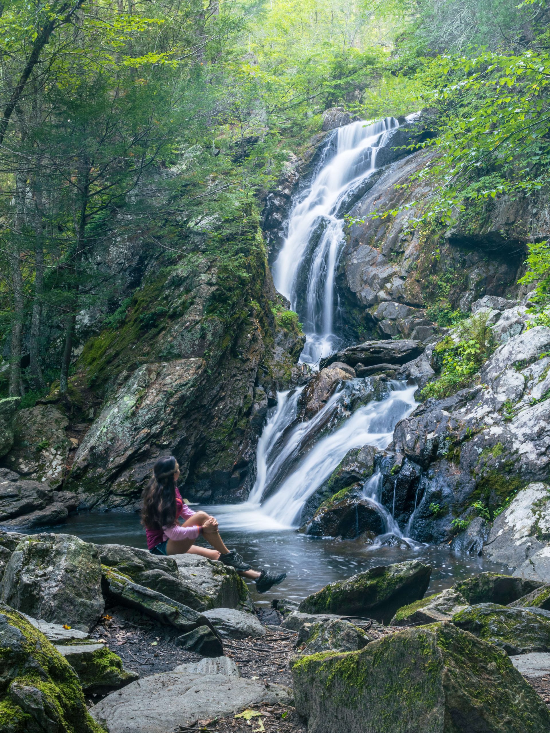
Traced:
<svg viewBox="0 0 550 733">
<path fill-rule="evenodd" d="M 195 611 L 252 608 L 246 583 L 219 561 L 198 555 L 161 557 L 126 545 L 98 545 L 98 550 L 103 565 Z"/>
</svg>

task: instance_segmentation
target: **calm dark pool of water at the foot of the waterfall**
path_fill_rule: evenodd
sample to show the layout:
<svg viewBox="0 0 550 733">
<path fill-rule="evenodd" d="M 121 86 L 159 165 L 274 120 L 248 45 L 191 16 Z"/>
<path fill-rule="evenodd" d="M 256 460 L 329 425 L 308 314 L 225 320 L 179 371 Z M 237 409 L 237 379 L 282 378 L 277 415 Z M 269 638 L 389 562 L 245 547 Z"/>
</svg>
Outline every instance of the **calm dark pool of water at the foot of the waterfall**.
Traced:
<svg viewBox="0 0 550 733">
<path fill-rule="evenodd" d="M 195 507 L 193 507 L 195 508 Z M 197 507 L 199 509 L 199 507 Z M 419 559 L 432 567 L 428 593 L 449 588 L 459 578 L 491 570 L 507 572 L 505 566 L 488 561 L 484 557 L 452 553 L 434 545 L 422 545 L 414 550 L 360 545 L 353 541 L 306 537 L 293 529 L 257 529 L 239 527 L 235 518 L 235 506 L 205 507 L 220 522 L 221 535 L 230 548 L 237 548 L 243 558 L 254 568 L 268 568 L 287 572 L 286 580 L 265 594 L 258 594 L 254 583 L 249 583 L 254 601 L 269 605 L 274 598 L 301 600 L 318 591 L 327 583 L 348 578 L 356 572 L 376 565 Z M 227 523 L 224 522 L 227 515 Z M 232 520 L 232 521 L 231 521 Z M 224 524 L 227 529 L 224 531 Z M 260 526 L 260 523 L 259 523 Z M 145 533 L 136 514 L 115 512 L 85 513 L 68 517 L 65 524 L 42 527 L 37 531 L 54 531 L 75 534 L 87 542 L 98 544 L 117 543 L 135 548 L 147 548 Z M 203 540 L 199 540 L 203 544 Z"/>
</svg>

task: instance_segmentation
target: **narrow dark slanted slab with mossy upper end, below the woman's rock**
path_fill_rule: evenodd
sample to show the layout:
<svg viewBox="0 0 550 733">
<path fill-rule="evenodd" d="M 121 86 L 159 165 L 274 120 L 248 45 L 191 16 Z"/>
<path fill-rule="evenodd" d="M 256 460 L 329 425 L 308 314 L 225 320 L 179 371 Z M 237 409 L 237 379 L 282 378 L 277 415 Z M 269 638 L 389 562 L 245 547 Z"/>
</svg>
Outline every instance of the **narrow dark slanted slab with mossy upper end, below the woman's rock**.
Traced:
<svg viewBox="0 0 550 733">
<path fill-rule="evenodd" d="M 212 628 L 210 621 L 193 608 L 188 608 L 183 603 L 177 603 L 162 593 L 133 583 L 125 575 L 119 575 L 106 566 L 103 566 L 102 585 L 103 592 L 111 603 L 135 608 L 136 611 L 141 611 L 142 614 L 150 616 L 161 624 L 173 626 L 178 631 L 187 633 L 199 626 Z"/>
</svg>

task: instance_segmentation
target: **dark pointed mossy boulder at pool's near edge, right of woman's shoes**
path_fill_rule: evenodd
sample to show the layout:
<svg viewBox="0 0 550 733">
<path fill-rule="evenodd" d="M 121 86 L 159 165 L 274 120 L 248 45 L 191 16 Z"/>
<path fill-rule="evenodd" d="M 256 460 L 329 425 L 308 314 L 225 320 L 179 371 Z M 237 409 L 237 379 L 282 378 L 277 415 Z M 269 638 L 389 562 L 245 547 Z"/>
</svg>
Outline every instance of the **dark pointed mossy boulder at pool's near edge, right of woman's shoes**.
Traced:
<svg viewBox="0 0 550 733">
<path fill-rule="evenodd" d="M 384 623 L 397 608 L 423 597 L 431 568 L 419 560 L 371 567 L 344 581 L 329 583 L 299 605 L 306 614 L 372 616 Z"/>
</svg>

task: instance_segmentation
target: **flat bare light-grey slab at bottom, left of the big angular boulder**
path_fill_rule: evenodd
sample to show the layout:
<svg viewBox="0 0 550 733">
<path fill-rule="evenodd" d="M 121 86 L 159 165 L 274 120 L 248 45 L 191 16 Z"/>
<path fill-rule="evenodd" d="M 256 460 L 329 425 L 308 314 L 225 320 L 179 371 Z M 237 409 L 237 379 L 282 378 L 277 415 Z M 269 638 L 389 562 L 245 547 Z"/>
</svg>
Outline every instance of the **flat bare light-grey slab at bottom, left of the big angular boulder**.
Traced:
<svg viewBox="0 0 550 733">
<path fill-rule="evenodd" d="M 132 682 L 89 712 L 109 733 L 172 733 L 197 718 L 221 718 L 262 703 L 292 702 L 292 690 L 282 685 L 186 669 Z"/>
</svg>

